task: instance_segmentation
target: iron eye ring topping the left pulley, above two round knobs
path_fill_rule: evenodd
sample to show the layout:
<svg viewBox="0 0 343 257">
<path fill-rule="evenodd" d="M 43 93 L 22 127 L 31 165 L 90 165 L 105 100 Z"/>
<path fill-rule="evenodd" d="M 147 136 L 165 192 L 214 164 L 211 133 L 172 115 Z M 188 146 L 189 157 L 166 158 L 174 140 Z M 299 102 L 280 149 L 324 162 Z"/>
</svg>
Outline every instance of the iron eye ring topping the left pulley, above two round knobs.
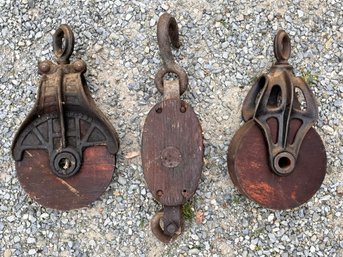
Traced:
<svg viewBox="0 0 343 257">
<path fill-rule="evenodd" d="M 53 50 L 57 63 L 69 63 L 69 57 L 74 50 L 74 34 L 71 28 L 62 24 L 53 35 Z"/>
</svg>

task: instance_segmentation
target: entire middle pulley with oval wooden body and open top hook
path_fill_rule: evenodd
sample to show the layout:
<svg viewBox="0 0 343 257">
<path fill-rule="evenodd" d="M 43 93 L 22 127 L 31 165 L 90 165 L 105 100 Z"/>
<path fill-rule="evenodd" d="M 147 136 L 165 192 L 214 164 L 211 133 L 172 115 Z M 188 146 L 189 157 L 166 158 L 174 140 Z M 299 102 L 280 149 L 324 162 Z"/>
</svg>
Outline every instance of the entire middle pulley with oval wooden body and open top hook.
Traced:
<svg viewBox="0 0 343 257">
<path fill-rule="evenodd" d="M 157 39 L 163 60 L 155 84 L 164 100 L 149 112 L 142 135 L 144 178 L 163 211 L 151 220 L 152 232 L 162 242 L 174 240 L 183 229 L 182 205 L 197 189 L 203 166 L 203 139 L 192 107 L 180 99 L 188 77 L 175 61 L 171 44 L 180 47 L 177 22 L 168 13 L 157 24 Z M 178 80 L 164 80 L 174 73 Z"/>
</svg>

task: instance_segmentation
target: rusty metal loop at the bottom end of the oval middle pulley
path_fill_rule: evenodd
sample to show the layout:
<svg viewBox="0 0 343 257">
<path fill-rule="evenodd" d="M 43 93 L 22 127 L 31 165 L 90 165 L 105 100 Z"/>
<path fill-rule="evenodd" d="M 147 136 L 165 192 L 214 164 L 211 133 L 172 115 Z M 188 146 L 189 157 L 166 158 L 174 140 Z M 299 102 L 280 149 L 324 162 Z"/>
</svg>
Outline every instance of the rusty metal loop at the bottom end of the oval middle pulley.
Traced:
<svg viewBox="0 0 343 257">
<path fill-rule="evenodd" d="M 183 218 L 181 207 L 164 206 L 164 210 L 156 213 L 151 219 L 151 231 L 161 242 L 168 244 L 182 233 Z"/>
</svg>

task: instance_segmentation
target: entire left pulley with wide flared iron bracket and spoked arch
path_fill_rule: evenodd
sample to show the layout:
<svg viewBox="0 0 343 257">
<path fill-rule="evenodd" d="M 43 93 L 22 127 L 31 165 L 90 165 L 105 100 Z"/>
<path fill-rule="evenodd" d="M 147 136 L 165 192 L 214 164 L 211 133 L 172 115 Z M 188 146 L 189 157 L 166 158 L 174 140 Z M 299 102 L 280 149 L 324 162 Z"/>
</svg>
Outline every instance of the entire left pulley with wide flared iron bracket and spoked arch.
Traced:
<svg viewBox="0 0 343 257">
<path fill-rule="evenodd" d="M 70 210 L 95 201 L 112 180 L 117 134 L 86 85 L 86 63 L 69 58 L 74 35 L 61 25 L 53 35 L 57 64 L 38 64 L 37 101 L 12 145 L 17 177 L 45 207 Z"/>
</svg>

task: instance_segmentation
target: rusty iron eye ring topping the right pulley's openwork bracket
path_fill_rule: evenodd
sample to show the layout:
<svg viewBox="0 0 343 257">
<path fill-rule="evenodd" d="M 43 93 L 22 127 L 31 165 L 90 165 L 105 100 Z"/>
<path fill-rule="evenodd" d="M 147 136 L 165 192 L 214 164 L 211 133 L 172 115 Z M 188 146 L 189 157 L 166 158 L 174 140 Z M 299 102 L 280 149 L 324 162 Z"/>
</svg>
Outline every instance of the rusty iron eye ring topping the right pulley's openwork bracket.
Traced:
<svg viewBox="0 0 343 257">
<path fill-rule="evenodd" d="M 274 55 L 280 63 L 287 62 L 291 55 L 291 40 L 284 30 L 279 30 L 274 38 Z"/>
</svg>

